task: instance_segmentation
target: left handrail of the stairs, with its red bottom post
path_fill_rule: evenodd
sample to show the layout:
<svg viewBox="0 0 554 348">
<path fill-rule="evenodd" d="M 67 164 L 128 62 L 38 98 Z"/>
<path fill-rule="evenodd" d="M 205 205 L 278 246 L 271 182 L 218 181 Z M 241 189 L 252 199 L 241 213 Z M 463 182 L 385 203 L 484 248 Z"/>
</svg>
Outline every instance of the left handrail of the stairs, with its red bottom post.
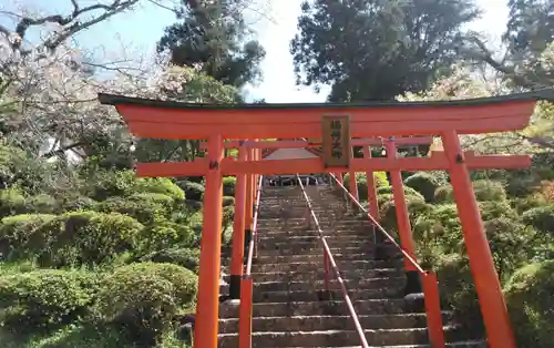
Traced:
<svg viewBox="0 0 554 348">
<path fill-rule="evenodd" d="M 252 348 L 252 320 L 253 320 L 253 287 L 252 260 L 254 258 L 254 248 L 257 247 L 258 235 L 258 215 L 259 199 L 261 196 L 261 183 L 264 177 L 260 175 L 256 191 L 256 203 L 254 205 L 254 218 L 252 223 L 252 237 L 248 242 L 248 256 L 245 272 L 240 280 L 240 305 L 238 308 L 238 347 Z"/>
</svg>

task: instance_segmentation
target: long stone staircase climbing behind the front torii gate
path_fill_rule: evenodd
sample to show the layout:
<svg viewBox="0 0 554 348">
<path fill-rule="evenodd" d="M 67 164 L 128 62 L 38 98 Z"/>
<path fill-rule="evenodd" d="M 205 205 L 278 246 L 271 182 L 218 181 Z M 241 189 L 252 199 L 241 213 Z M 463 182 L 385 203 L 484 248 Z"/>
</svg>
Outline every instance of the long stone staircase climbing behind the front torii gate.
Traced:
<svg viewBox="0 0 554 348">
<path fill-rule="evenodd" d="M 315 213 L 345 279 L 371 347 L 431 347 L 425 314 L 409 310 L 406 276 L 392 244 L 376 243 L 367 218 L 356 216 L 329 186 L 307 186 Z M 325 290 L 322 246 L 298 186 L 264 187 L 258 221 L 258 257 L 253 264 L 254 348 L 359 347 L 359 337 L 331 273 Z M 311 221 L 311 219 L 310 219 Z M 380 255 L 376 259 L 376 247 Z M 222 291 L 226 291 L 222 286 Z M 219 347 L 238 348 L 238 306 L 224 303 Z M 449 347 L 488 347 L 464 342 L 443 313 Z M 202 348 L 202 347 L 199 347 Z"/>
</svg>

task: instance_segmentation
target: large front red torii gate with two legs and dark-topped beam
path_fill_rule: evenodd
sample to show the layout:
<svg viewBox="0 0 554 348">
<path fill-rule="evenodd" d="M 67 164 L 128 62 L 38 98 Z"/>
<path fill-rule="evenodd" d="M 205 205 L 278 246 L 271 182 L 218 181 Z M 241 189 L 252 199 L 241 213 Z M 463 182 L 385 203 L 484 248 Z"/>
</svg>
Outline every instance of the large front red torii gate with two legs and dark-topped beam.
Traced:
<svg viewBox="0 0 554 348">
<path fill-rule="evenodd" d="M 531 161 L 529 156 L 475 156 L 463 153 L 459 134 L 521 130 L 529 124 L 536 101 L 551 96 L 547 92 L 465 101 L 367 104 L 214 105 L 111 94 L 100 94 L 99 100 L 103 104 L 115 105 L 135 136 L 208 140 L 208 156 L 205 158 L 187 163 L 137 165 L 140 176 L 206 176 L 195 347 L 217 347 L 223 175 L 237 175 L 239 178 L 248 176 L 252 181 L 253 176 L 259 174 L 346 171 L 342 167 L 325 167 L 320 158 L 260 161 L 259 151 L 252 151 L 249 158 L 240 156 L 242 161 L 223 158 L 223 140 L 321 137 L 322 115 L 348 114 L 352 137 L 441 136 L 444 153 L 433 153 L 423 158 L 352 158 L 348 171 L 450 172 L 489 344 L 492 348 L 515 348 L 469 170 L 522 167 Z M 250 212 L 247 214 L 252 216 Z"/>
</svg>

